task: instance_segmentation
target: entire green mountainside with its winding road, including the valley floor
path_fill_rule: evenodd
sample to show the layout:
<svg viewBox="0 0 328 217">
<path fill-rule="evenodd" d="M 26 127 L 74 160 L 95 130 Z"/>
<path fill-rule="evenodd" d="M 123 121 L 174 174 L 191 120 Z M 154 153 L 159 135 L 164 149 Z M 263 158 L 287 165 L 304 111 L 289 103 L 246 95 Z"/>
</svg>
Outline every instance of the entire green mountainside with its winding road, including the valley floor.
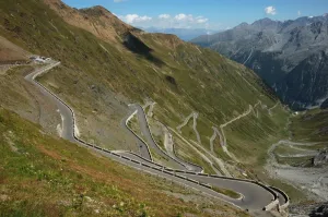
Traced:
<svg viewBox="0 0 328 217">
<path fill-rule="evenodd" d="M 292 111 L 243 64 L 103 7 L 0 9 L 1 215 L 286 216 L 327 200 L 325 110 Z"/>
</svg>

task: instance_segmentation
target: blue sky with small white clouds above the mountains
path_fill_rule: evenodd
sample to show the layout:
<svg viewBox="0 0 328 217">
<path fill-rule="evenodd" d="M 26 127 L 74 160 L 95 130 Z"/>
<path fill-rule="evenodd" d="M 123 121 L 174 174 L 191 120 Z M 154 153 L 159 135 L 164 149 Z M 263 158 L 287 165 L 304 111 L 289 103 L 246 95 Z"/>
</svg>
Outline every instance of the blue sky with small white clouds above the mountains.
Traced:
<svg viewBox="0 0 328 217">
<path fill-rule="evenodd" d="M 328 0 L 62 0 L 78 9 L 103 5 L 137 27 L 227 29 L 256 20 L 328 13 Z"/>
</svg>

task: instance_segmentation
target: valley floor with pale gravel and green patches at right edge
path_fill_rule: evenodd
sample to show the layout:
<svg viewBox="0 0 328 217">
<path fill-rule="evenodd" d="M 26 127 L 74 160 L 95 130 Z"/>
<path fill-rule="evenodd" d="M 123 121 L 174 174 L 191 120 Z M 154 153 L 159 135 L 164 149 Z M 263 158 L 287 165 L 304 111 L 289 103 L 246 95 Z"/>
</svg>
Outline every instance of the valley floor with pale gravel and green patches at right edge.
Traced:
<svg viewBox="0 0 328 217">
<path fill-rule="evenodd" d="M 289 140 L 282 140 L 269 149 L 267 168 L 270 174 L 291 183 L 311 197 L 307 203 L 292 207 L 292 214 L 295 210 L 298 214 L 309 213 L 306 210 L 308 207 L 320 207 L 328 200 L 327 123 L 327 110 L 297 112 L 290 118 Z M 289 195 L 295 200 L 302 197 L 292 193 Z"/>
</svg>

